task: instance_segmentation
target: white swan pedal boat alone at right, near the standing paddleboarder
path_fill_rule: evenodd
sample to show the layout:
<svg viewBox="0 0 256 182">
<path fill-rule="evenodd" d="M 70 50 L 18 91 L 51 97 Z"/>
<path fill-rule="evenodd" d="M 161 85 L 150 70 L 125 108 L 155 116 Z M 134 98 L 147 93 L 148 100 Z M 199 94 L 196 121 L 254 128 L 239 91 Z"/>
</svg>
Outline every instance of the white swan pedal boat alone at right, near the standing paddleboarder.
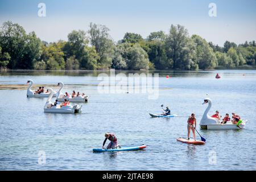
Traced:
<svg viewBox="0 0 256 182">
<path fill-rule="evenodd" d="M 203 104 L 207 104 L 208 107 L 204 111 L 204 115 L 200 121 L 200 127 L 201 129 L 207 129 L 207 130 L 237 130 L 237 129 L 243 129 L 245 127 L 246 122 L 242 122 L 240 125 L 233 124 L 231 121 L 226 122 L 226 124 L 221 124 L 220 119 L 210 117 L 208 112 L 210 110 L 210 107 L 212 107 L 212 100 L 210 98 L 205 98 Z"/>
</svg>

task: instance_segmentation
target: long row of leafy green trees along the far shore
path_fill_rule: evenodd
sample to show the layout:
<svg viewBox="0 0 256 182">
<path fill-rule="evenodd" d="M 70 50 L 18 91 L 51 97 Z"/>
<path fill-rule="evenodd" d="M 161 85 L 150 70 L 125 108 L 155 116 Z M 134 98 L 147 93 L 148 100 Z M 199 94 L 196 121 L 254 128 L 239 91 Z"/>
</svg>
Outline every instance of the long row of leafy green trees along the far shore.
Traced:
<svg viewBox="0 0 256 182">
<path fill-rule="evenodd" d="M 179 24 L 166 34 L 151 32 L 146 39 L 127 32 L 117 43 L 109 28 L 89 24 L 89 30 L 73 30 L 68 41 L 47 43 L 35 32 L 26 33 L 17 23 L 5 22 L 0 29 L 0 67 L 5 69 L 214 69 L 255 65 L 255 41 L 224 47 L 188 35 Z"/>
</svg>

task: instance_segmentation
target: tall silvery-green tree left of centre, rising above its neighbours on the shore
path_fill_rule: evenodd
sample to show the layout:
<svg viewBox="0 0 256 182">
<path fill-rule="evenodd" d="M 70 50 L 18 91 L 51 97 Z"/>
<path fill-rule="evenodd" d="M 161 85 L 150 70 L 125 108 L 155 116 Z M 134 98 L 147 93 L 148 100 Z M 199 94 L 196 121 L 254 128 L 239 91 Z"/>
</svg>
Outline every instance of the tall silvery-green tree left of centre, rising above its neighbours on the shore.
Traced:
<svg viewBox="0 0 256 182">
<path fill-rule="evenodd" d="M 90 23 L 89 29 L 90 44 L 95 47 L 100 56 L 97 61 L 97 68 L 110 68 L 112 65 L 112 55 L 114 53 L 114 43 L 109 35 L 109 28 L 104 25 Z"/>
</svg>

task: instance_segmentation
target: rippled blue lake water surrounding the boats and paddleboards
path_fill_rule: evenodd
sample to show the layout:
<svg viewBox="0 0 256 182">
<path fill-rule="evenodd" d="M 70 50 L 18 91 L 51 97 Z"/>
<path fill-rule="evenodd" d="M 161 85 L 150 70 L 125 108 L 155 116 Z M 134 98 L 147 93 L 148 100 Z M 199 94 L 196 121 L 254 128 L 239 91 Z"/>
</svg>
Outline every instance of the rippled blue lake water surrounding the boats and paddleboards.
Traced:
<svg viewBox="0 0 256 182">
<path fill-rule="evenodd" d="M 221 79 L 214 78 L 217 72 Z M 256 71 L 155 71 L 159 73 L 157 100 L 149 100 L 147 93 L 98 93 L 99 73 L 0 73 L 0 85 L 26 84 L 28 79 L 42 85 L 62 81 L 71 84 L 64 90 L 89 95 L 81 114 L 46 114 L 43 107 L 47 98 L 27 98 L 26 89 L 0 90 L 0 170 L 256 169 Z M 207 107 L 202 105 L 205 97 L 213 102 L 210 113 L 238 113 L 248 120 L 246 128 L 200 130 Z M 169 105 L 179 117 L 150 118 L 148 113 L 160 113 L 162 104 Z M 207 139 L 203 146 L 176 141 L 187 136 L 191 113 L 196 114 L 197 129 Z M 114 133 L 122 146 L 146 144 L 147 148 L 92 152 L 92 148 L 102 146 L 107 131 Z M 44 164 L 39 163 L 40 152 L 46 154 Z"/>
</svg>

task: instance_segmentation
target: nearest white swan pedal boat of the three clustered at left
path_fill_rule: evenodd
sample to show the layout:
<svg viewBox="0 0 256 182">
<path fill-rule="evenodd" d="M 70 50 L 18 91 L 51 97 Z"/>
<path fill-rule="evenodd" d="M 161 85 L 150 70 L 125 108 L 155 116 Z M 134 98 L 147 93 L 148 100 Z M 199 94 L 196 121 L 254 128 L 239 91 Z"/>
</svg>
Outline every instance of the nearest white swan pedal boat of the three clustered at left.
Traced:
<svg viewBox="0 0 256 182">
<path fill-rule="evenodd" d="M 51 102 L 52 96 L 53 96 L 53 90 L 51 88 L 48 89 L 50 94 L 46 101 L 46 105 L 44 105 L 44 113 L 81 113 L 81 107 L 79 105 L 66 105 L 66 106 L 60 106 L 57 104 L 54 106 Z"/>
</svg>

